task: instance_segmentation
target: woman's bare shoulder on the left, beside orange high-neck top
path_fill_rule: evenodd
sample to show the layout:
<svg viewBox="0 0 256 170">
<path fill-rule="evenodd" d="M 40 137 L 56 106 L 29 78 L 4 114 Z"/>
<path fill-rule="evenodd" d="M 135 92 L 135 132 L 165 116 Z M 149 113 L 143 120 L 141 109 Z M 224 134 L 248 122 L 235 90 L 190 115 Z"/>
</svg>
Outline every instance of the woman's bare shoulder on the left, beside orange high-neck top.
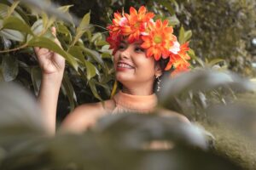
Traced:
<svg viewBox="0 0 256 170">
<path fill-rule="evenodd" d="M 88 127 L 93 126 L 101 116 L 112 111 L 113 105 L 113 100 L 79 105 L 61 123 L 61 129 L 73 133 L 82 133 Z"/>
</svg>

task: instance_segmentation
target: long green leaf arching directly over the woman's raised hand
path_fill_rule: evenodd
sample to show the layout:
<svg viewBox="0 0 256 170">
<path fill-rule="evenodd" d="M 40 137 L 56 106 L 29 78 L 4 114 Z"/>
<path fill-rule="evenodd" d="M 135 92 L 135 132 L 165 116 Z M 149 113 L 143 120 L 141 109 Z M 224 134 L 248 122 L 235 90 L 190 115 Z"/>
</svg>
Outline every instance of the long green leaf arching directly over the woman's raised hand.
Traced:
<svg viewBox="0 0 256 170">
<path fill-rule="evenodd" d="M 47 37 L 33 37 L 31 41 L 28 42 L 28 46 L 32 47 L 40 47 L 40 48 L 48 48 L 51 51 L 54 51 L 57 54 L 60 54 L 67 62 L 73 66 L 73 68 L 78 71 L 78 62 L 76 59 L 71 55 L 64 51 L 59 45 L 55 42 L 51 41 Z"/>
</svg>

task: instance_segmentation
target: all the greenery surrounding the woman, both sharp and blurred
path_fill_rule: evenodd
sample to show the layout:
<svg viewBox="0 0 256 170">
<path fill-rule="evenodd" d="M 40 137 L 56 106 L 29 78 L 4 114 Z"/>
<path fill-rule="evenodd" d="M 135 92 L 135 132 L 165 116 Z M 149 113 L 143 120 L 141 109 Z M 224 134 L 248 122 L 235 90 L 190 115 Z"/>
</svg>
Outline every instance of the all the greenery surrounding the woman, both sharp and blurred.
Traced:
<svg viewBox="0 0 256 170">
<path fill-rule="evenodd" d="M 255 97 L 252 92 L 241 93 L 241 90 L 253 90 L 254 87 L 247 80 L 226 72 L 228 68 L 242 76 L 254 76 L 252 61 L 255 46 L 252 39 L 256 37 L 255 1 L 55 0 L 54 2 L 59 5 L 54 5 L 50 1 L 1 1 L 0 80 L 2 82 L 17 82 L 36 96 L 41 73 L 32 47 L 39 46 L 49 48 L 67 59 L 58 105 L 59 122 L 76 105 L 109 99 L 113 90 L 114 73 L 111 51 L 108 50 L 108 43 L 105 42 L 105 37 L 108 35 L 105 27 L 116 10 L 120 11 L 124 8 L 127 11 L 130 6 L 138 8 L 144 4 L 148 10 L 157 14 L 157 18 L 170 20 L 179 42 L 190 40 L 190 47 L 194 49 L 189 51 L 193 71 L 191 74 L 164 83 L 163 94 L 160 94 L 160 107 L 188 116 L 192 122 L 200 124 L 209 132 L 201 130 L 196 134 L 198 126 L 194 127 L 194 125 L 189 127 L 191 131 L 187 130 L 184 133 L 177 133 L 181 132 L 183 127 L 169 132 L 168 129 L 177 127 L 172 118 L 168 119 L 170 124 L 166 124 L 165 120 L 158 116 L 142 118 L 131 115 L 130 118 L 129 116 L 106 117 L 97 129 L 85 133 L 84 136 L 60 135 L 54 139 L 45 139 L 42 138 L 44 127 L 40 127 L 37 122 L 38 114 L 32 113 L 38 109 L 33 106 L 31 106 L 32 110 L 30 106 L 24 108 L 24 105 L 34 105 L 32 99 L 27 97 L 24 103 L 19 103 L 17 99 L 20 98 L 15 99 L 15 96 L 19 96 L 20 90 L 15 91 L 15 88 L 5 87 L 1 94 L 3 106 L 0 132 L 3 135 L 0 136 L 4 138 L 0 139 L 0 166 L 4 169 L 61 169 L 65 166 L 67 169 L 83 169 L 90 166 L 94 169 L 102 169 L 103 162 L 111 162 L 109 169 L 120 169 L 127 165 L 134 166 L 127 166 L 127 169 L 140 169 L 151 160 L 162 162 L 175 160 L 179 156 L 180 164 L 165 161 L 162 162 L 161 168 L 181 166 L 180 169 L 193 169 L 195 166 L 198 169 L 199 167 L 196 166 L 201 165 L 200 169 L 210 169 L 204 167 L 207 163 L 219 166 L 218 169 L 222 166 L 227 166 L 225 169 L 255 168 L 255 126 L 253 126 L 256 120 L 255 108 L 253 108 Z M 51 26 L 56 27 L 57 37 L 63 49 L 58 48 L 51 41 L 52 35 L 49 33 Z M 210 69 L 218 72 L 203 71 Z M 16 94 L 5 94 L 12 91 Z M 18 109 L 10 109 L 6 101 L 14 102 Z M 23 118 L 17 116 L 26 112 L 27 115 Z M 6 116 L 6 113 L 9 113 L 9 116 Z M 154 136 L 156 127 L 147 127 L 145 119 L 148 119 L 148 122 L 159 123 L 157 129 L 166 131 L 157 131 L 158 134 L 161 133 L 160 137 Z M 13 122 L 22 123 L 13 127 Z M 124 126 L 125 123 L 127 127 Z M 140 129 L 138 127 L 140 123 L 144 123 L 145 127 Z M 28 124 L 32 125 L 27 127 Z M 148 133 L 143 136 L 142 132 Z M 128 137 L 125 137 L 126 134 Z M 193 134 L 195 139 L 190 139 L 189 134 Z M 201 138 L 205 135 L 212 141 L 212 149 L 207 152 L 204 151 L 205 140 Z M 118 136 L 119 138 L 116 138 Z M 138 140 L 127 143 L 125 142 L 127 138 Z M 145 141 L 159 138 L 174 141 L 177 145 L 182 143 L 182 146 L 168 154 L 161 152 L 158 154 L 152 150 L 143 152 L 139 147 Z M 189 141 L 189 147 L 188 144 L 183 145 L 184 141 Z M 191 145 L 193 147 L 196 145 L 199 149 L 193 150 Z M 128 152 L 123 152 L 124 150 Z M 137 157 L 135 154 L 138 152 L 141 154 Z M 191 157 L 195 157 L 195 160 L 191 160 Z M 201 161 L 202 157 L 205 161 Z M 119 161 L 113 161 L 117 159 Z M 199 161 L 201 163 L 197 163 Z M 184 165 L 187 166 L 182 167 Z M 143 168 L 154 169 L 154 166 Z"/>
</svg>

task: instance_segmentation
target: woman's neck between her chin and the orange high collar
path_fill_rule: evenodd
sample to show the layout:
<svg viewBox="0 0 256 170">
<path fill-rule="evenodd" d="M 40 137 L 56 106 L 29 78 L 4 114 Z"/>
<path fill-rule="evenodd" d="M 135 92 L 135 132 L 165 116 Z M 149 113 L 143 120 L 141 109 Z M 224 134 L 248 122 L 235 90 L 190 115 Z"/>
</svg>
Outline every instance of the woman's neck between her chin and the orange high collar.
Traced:
<svg viewBox="0 0 256 170">
<path fill-rule="evenodd" d="M 154 94 L 153 84 L 148 86 L 145 86 L 145 84 L 143 84 L 142 86 L 137 84 L 136 87 L 129 87 L 129 88 L 123 85 L 122 92 L 125 94 L 142 95 L 142 96 Z"/>
</svg>

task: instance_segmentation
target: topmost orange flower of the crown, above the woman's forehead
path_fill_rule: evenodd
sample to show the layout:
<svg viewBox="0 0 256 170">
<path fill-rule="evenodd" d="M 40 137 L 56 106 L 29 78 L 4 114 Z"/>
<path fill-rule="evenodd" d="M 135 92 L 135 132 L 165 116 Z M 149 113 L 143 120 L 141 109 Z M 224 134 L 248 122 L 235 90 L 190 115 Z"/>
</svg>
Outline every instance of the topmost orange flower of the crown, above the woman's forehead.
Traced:
<svg viewBox="0 0 256 170">
<path fill-rule="evenodd" d="M 130 14 L 125 14 L 128 20 L 127 25 L 121 27 L 124 36 L 128 36 L 128 42 L 139 39 L 141 33 L 146 30 L 147 22 L 153 19 L 153 13 L 147 13 L 147 9 L 142 6 L 138 12 L 135 8 L 130 8 Z"/>
</svg>

